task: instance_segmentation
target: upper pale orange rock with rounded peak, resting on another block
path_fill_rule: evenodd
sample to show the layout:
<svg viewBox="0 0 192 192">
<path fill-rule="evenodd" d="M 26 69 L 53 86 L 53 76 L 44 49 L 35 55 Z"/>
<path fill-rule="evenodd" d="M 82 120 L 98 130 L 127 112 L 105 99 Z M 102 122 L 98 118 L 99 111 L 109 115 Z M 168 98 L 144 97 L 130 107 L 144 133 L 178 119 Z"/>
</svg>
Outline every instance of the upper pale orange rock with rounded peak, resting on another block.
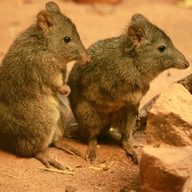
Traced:
<svg viewBox="0 0 192 192">
<path fill-rule="evenodd" d="M 146 139 L 148 144 L 192 145 L 192 95 L 181 84 L 171 84 L 150 110 Z"/>
</svg>

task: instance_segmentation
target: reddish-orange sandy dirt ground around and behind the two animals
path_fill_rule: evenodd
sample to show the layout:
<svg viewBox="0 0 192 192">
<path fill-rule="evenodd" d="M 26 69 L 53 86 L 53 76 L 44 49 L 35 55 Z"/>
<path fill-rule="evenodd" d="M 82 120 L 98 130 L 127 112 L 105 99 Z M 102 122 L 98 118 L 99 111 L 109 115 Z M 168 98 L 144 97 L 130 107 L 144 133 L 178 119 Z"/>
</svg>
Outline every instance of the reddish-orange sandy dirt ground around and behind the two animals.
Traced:
<svg viewBox="0 0 192 192">
<path fill-rule="evenodd" d="M 8 51 L 16 36 L 35 21 L 36 14 L 44 8 L 46 0 L 1 0 L 0 1 L 0 60 Z M 175 46 L 191 63 L 192 10 L 181 8 L 174 0 L 124 0 L 116 6 L 76 4 L 72 1 L 55 0 L 62 12 L 76 24 L 86 47 L 99 39 L 120 35 L 134 13 L 142 13 L 152 23 L 163 29 Z M 72 64 L 69 64 L 69 70 Z M 170 69 L 159 75 L 151 89 L 143 98 L 141 106 L 160 93 L 171 82 L 191 74 L 187 70 Z M 64 138 L 69 145 L 86 154 L 86 142 Z M 142 146 L 146 143 L 143 131 L 133 137 L 135 150 L 141 157 Z M 74 175 L 43 171 L 44 168 L 34 158 L 19 158 L 0 151 L 0 191 L 68 191 L 68 192 L 139 192 L 139 167 L 134 165 L 119 143 L 111 138 L 99 140 L 95 167 L 106 167 L 114 162 L 109 170 L 95 170 L 90 163 L 50 148 L 49 155 L 66 167 Z M 67 168 L 68 167 L 68 168 Z"/>
</svg>

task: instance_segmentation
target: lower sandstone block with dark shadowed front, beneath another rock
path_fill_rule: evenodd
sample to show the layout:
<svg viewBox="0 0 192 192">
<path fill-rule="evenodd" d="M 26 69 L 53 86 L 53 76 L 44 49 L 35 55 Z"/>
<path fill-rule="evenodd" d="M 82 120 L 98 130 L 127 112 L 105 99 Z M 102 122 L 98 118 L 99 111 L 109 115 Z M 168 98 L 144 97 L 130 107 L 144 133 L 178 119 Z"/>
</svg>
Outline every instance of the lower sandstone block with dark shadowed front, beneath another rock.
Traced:
<svg viewBox="0 0 192 192">
<path fill-rule="evenodd" d="M 142 192 L 180 192 L 191 171 L 192 147 L 143 148 L 140 162 Z"/>
</svg>

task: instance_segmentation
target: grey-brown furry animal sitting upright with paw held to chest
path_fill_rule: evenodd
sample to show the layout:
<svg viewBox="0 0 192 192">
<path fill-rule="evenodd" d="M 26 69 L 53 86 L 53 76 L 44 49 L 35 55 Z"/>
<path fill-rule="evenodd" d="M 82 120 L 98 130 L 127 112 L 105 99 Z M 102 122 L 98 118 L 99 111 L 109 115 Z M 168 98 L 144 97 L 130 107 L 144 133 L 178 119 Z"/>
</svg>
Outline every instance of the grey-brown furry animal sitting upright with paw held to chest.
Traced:
<svg viewBox="0 0 192 192">
<path fill-rule="evenodd" d="M 62 137 L 58 97 L 69 88 L 65 84 L 66 64 L 72 60 L 86 63 L 89 57 L 75 25 L 57 4 L 49 2 L 2 61 L 1 149 L 62 169 L 46 151 L 51 144 L 57 147 Z"/>
</svg>

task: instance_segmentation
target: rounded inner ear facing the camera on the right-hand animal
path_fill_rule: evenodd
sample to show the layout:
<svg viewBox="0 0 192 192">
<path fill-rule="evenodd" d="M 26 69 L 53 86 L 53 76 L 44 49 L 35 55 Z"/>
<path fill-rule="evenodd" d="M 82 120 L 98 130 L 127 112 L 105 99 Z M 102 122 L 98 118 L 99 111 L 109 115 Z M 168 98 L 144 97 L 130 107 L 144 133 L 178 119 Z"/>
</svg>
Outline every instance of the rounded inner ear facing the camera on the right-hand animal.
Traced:
<svg viewBox="0 0 192 192">
<path fill-rule="evenodd" d="M 145 31 L 141 26 L 130 26 L 128 28 L 128 37 L 132 43 L 138 44 L 145 37 Z"/>
</svg>

